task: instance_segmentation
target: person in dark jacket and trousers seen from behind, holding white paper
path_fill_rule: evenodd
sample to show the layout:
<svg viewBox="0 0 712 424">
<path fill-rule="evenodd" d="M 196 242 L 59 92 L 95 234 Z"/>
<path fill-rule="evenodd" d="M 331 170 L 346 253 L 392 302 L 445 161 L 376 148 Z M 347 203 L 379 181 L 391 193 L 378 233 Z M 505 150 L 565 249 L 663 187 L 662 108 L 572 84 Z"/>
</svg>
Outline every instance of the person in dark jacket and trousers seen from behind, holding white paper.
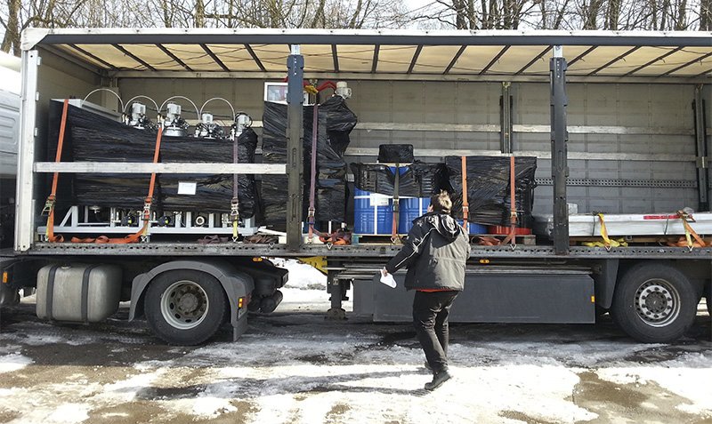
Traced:
<svg viewBox="0 0 712 424">
<path fill-rule="evenodd" d="M 425 215 L 413 221 L 406 243 L 382 271 L 384 276 L 408 267 L 405 286 L 415 290 L 413 324 L 425 351 L 433 390 L 450 379 L 448 372 L 448 315 L 453 300 L 465 285 L 465 262 L 470 242 L 464 229 L 450 216 L 447 192 L 431 197 Z"/>
</svg>

